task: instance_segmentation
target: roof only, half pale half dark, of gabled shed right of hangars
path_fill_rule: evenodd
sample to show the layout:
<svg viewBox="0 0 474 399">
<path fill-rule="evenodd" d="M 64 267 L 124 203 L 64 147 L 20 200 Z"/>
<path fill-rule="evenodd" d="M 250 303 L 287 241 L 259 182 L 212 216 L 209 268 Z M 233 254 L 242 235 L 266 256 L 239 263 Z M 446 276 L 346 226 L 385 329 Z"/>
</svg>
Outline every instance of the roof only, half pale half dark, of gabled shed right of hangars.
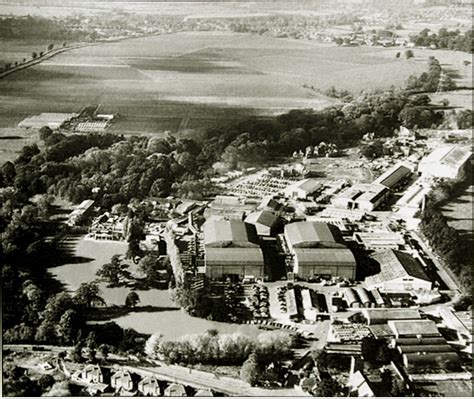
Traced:
<svg viewBox="0 0 474 399">
<path fill-rule="evenodd" d="M 421 264 L 405 252 L 388 249 L 376 252 L 372 258 L 380 264 L 380 272 L 365 279 L 368 285 L 381 284 L 403 277 L 431 281 Z"/>
</svg>

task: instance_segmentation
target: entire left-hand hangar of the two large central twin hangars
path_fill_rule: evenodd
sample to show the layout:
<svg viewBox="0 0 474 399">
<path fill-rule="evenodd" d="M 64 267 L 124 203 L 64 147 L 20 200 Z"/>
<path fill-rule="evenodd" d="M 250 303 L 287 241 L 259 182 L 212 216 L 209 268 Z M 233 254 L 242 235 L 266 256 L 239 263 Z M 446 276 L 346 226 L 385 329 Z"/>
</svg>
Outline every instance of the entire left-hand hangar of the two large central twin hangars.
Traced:
<svg viewBox="0 0 474 399">
<path fill-rule="evenodd" d="M 263 254 L 255 226 L 237 220 L 204 223 L 206 275 L 211 279 L 263 278 Z"/>
</svg>

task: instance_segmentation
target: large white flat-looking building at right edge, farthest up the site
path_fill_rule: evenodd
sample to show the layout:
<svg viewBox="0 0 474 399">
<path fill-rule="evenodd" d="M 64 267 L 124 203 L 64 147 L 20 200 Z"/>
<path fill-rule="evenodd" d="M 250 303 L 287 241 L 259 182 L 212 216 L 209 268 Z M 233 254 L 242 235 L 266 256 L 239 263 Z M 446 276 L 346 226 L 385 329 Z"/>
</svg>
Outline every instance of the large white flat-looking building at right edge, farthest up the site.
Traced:
<svg viewBox="0 0 474 399">
<path fill-rule="evenodd" d="M 471 155 L 471 151 L 465 147 L 441 147 L 421 160 L 418 171 L 424 177 L 459 179 Z"/>
</svg>

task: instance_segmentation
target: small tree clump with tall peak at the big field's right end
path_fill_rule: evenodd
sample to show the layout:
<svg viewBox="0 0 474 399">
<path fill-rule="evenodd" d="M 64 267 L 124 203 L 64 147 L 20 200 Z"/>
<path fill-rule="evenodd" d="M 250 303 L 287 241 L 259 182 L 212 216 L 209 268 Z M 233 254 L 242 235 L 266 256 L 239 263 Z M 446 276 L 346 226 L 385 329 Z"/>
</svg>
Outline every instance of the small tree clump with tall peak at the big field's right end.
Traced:
<svg viewBox="0 0 474 399">
<path fill-rule="evenodd" d="M 437 58 L 430 57 L 428 61 L 428 72 L 423 72 L 420 76 L 411 75 L 406 83 L 408 90 L 421 90 L 425 92 L 435 92 L 438 88 L 443 91 L 454 90 L 456 83 L 443 70 Z"/>
</svg>

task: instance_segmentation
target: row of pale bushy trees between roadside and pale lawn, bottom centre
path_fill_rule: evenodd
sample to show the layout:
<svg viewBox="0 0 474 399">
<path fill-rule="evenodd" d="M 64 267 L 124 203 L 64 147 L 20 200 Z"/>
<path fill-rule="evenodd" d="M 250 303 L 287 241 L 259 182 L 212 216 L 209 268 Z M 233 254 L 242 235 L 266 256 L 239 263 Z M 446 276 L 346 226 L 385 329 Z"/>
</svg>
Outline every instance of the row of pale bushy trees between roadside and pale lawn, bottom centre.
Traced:
<svg viewBox="0 0 474 399">
<path fill-rule="evenodd" d="M 242 365 L 252 353 L 260 363 L 286 358 L 294 345 L 295 337 L 286 331 L 264 332 L 253 338 L 209 330 L 175 340 L 152 335 L 145 345 L 145 353 L 169 363 Z"/>
</svg>

